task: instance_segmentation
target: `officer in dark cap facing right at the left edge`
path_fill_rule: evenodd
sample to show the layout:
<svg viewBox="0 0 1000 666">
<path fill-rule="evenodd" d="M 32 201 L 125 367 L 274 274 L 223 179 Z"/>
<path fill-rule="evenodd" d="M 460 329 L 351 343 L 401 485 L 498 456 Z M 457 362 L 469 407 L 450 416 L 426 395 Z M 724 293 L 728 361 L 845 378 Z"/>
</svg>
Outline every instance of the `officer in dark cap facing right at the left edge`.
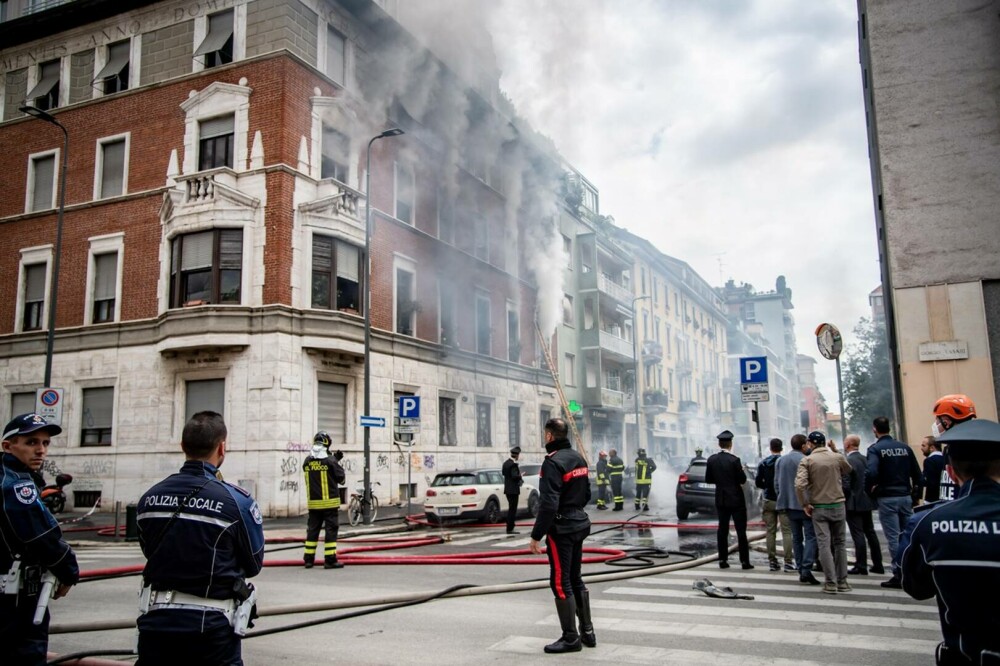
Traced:
<svg viewBox="0 0 1000 666">
<path fill-rule="evenodd" d="M 44 664 L 49 645 L 49 613 L 33 618 L 42 575 L 54 575 L 58 599 L 80 579 L 76 555 L 59 524 L 42 504 L 32 472 L 48 455 L 50 438 L 62 428 L 38 414 L 15 417 L 3 429 L 0 482 L 0 652 L 4 663 Z"/>
</svg>

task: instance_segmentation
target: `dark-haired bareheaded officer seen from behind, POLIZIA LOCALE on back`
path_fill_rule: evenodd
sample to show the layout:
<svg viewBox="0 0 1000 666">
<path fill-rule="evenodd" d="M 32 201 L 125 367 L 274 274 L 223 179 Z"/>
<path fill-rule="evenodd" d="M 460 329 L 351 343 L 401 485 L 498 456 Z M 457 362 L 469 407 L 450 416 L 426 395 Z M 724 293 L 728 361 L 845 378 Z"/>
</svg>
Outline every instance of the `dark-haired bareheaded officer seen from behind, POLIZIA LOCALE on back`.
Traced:
<svg viewBox="0 0 1000 666">
<path fill-rule="evenodd" d="M 180 472 L 139 499 L 139 666 L 243 664 L 240 637 L 256 597 L 246 579 L 263 566 L 264 530 L 250 493 L 216 476 L 226 437 L 221 415 L 192 416 Z"/>
</svg>

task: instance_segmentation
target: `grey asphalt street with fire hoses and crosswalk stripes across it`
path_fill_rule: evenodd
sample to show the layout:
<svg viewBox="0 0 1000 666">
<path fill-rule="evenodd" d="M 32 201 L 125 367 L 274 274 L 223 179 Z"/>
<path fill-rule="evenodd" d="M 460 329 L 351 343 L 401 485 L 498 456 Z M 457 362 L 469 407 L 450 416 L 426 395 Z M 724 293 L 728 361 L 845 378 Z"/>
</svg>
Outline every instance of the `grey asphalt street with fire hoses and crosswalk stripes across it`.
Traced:
<svg viewBox="0 0 1000 666">
<path fill-rule="evenodd" d="M 650 554 L 685 551 L 703 555 L 711 551 L 714 531 L 698 529 L 710 518 L 687 521 L 688 529 L 636 527 L 618 524 L 668 523 L 672 514 L 654 510 L 637 516 L 597 512 L 589 546 L 618 548 Z M 605 524 L 602 521 L 607 521 Z M 303 521 L 299 521 L 303 522 Z M 415 548 L 357 554 L 353 557 L 450 556 L 459 553 L 505 554 L 526 549 L 529 527 L 513 537 L 502 527 L 476 525 L 445 529 L 418 528 L 384 534 L 401 521 L 380 521 L 375 528 L 343 529 L 339 542 L 341 570 L 304 570 L 300 566 L 267 567 L 255 579 L 259 606 L 265 617 L 255 627 L 268 630 L 307 621 L 332 619 L 287 632 L 249 637 L 244 659 L 249 666 L 265 664 L 350 661 L 357 664 L 469 664 L 542 663 L 557 657 L 542 647 L 559 634 L 551 593 L 542 564 L 352 564 L 351 551 L 373 545 L 369 539 L 420 539 L 439 535 L 443 543 Z M 265 524 L 268 537 L 300 536 L 295 520 Z M 356 540 L 366 532 L 364 541 Z M 349 536 L 352 535 L 352 536 Z M 291 544 L 289 544 L 291 545 Z M 755 544 L 760 546 L 761 543 Z M 298 547 L 269 546 L 266 560 L 297 561 Z M 125 567 L 142 563 L 135 544 L 81 545 L 84 570 Z M 768 664 L 879 664 L 912 666 L 932 664 L 939 641 L 937 609 L 933 602 L 915 602 L 897 590 L 879 587 L 881 576 L 855 577 L 854 591 L 824 595 L 818 587 L 802 585 L 794 574 L 769 573 L 764 555 L 755 550 L 753 571 L 720 571 L 714 560 L 696 568 L 642 575 L 634 566 L 585 565 L 592 574 L 588 585 L 598 636 L 596 649 L 568 659 L 613 660 L 638 664 L 725 663 Z M 679 565 L 690 558 L 673 554 L 650 560 L 654 566 Z M 629 564 L 639 562 L 632 560 Z M 719 587 L 753 595 L 753 600 L 709 598 L 692 589 L 708 578 Z M 412 602 L 453 586 L 488 586 L 496 593 L 436 599 L 406 607 L 379 610 L 386 603 Z M 138 577 L 86 582 L 65 599 L 53 603 L 53 625 L 109 620 L 129 621 L 135 615 Z M 510 591 L 501 591 L 515 588 Z M 528 588 L 528 589 L 524 589 Z M 329 610 L 272 615 L 277 610 L 304 604 L 328 604 Z M 342 618 L 342 619 L 337 619 Z M 115 629 L 87 633 L 54 634 L 50 650 L 67 654 L 95 649 L 129 649 L 134 630 Z M 567 659 L 567 658 L 564 658 Z"/>
</svg>

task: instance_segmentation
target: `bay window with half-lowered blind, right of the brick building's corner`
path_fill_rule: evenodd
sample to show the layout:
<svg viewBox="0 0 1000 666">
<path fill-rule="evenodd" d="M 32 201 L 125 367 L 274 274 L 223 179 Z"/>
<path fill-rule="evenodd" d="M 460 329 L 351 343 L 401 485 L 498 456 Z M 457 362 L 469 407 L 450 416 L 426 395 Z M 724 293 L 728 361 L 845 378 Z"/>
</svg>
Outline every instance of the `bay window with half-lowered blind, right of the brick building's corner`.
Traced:
<svg viewBox="0 0 1000 666">
<path fill-rule="evenodd" d="M 329 236 L 313 236 L 312 306 L 361 312 L 361 248 Z"/>
</svg>

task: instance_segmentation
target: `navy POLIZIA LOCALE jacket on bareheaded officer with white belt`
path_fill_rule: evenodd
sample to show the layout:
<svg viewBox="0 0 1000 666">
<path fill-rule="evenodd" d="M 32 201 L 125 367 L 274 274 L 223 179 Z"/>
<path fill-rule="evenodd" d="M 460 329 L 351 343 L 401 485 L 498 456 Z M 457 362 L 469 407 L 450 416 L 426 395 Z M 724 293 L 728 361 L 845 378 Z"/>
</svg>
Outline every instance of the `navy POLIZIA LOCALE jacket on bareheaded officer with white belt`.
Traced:
<svg viewBox="0 0 1000 666">
<path fill-rule="evenodd" d="M 233 599 L 237 581 L 260 573 L 264 564 L 260 509 L 250 493 L 218 480 L 216 471 L 208 463 L 188 460 L 180 472 L 139 500 L 139 545 L 146 556 L 142 576 L 154 590 Z M 158 617 L 164 613 L 170 618 Z M 181 615 L 190 622 L 175 621 Z M 221 613 L 212 611 L 153 611 L 139 618 L 139 628 L 200 631 L 218 625 L 220 619 L 228 624 Z"/>
</svg>

